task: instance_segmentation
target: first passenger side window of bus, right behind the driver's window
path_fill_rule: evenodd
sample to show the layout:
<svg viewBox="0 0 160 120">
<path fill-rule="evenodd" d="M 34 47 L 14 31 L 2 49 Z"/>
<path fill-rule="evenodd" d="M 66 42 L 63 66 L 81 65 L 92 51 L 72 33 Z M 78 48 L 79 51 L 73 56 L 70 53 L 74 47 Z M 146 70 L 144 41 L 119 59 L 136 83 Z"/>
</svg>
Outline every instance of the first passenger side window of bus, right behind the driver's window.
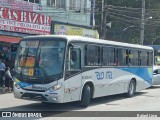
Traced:
<svg viewBox="0 0 160 120">
<path fill-rule="evenodd" d="M 99 66 L 100 65 L 100 47 L 99 46 L 86 45 L 85 65 L 86 66 Z"/>
</svg>

